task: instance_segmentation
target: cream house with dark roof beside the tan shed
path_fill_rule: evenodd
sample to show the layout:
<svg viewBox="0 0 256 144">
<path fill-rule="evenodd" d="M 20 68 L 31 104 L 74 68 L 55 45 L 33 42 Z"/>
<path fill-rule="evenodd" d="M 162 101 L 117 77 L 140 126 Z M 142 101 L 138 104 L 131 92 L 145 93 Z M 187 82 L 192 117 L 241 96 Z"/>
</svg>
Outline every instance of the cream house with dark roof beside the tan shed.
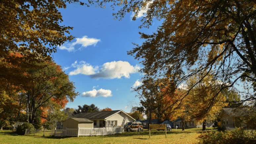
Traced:
<svg viewBox="0 0 256 144">
<path fill-rule="evenodd" d="M 93 127 L 124 126 L 128 122 L 135 121 L 135 119 L 122 110 L 79 113 L 72 116 L 72 118 L 89 119 L 93 122 Z"/>
</svg>

